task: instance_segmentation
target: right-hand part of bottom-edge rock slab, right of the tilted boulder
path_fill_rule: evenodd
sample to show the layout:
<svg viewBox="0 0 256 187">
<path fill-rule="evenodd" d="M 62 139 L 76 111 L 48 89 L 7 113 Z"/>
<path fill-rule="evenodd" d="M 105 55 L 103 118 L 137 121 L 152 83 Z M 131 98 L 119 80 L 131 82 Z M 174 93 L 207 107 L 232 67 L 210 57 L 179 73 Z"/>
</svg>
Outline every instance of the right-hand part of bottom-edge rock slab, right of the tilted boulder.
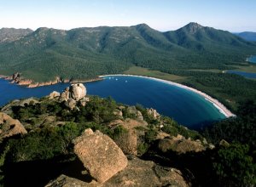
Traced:
<svg viewBox="0 0 256 187">
<path fill-rule="evenodd" d="M 131 157 L 128 166 L 103 186 L 189 186 L 182 173 L 172 167 L 160 167 L 154 161 Z"/>
</svg>

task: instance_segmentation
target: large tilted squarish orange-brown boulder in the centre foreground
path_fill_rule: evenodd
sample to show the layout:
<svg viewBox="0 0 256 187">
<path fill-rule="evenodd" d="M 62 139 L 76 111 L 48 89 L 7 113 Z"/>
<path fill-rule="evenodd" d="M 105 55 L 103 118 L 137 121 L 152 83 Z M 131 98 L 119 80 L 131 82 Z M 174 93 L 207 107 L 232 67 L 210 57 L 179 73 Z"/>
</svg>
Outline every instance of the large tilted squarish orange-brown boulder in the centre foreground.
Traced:
<svg viewBox="0 0 256 187">
<path fill-rule="evenodd" d="M 74 139 L 74 152 L 90 175 L 103 183 L 127 166 L 122 150 L 107 135 L 90 128 Z"/>
</svg>

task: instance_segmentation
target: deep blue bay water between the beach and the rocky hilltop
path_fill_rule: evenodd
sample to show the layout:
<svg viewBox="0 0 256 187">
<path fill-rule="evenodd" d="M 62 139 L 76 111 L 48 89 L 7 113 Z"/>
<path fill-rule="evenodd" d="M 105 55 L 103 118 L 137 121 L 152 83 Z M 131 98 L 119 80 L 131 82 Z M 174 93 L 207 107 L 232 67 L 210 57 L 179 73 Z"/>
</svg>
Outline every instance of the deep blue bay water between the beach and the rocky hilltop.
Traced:
<svg viewBox="0 0 256 187">
<path fill-rule="evenodd" d="M 12 99 L 42 97 L 54 90 L 61 92 L 68 85 L 63 83 L 41 88 L 23 88 L 0 79 L 0 105 Z M 111 96 L 127 105 L 153 107 L 160 114 L 171 116 L 187 127 L 197 128 L 202 123 L 224 119 L 224 115 L 200 95 L 143 77 L 106 77 L 100 82 L 85 83 L 85 86 L 88 94 Z"/>
</svg>

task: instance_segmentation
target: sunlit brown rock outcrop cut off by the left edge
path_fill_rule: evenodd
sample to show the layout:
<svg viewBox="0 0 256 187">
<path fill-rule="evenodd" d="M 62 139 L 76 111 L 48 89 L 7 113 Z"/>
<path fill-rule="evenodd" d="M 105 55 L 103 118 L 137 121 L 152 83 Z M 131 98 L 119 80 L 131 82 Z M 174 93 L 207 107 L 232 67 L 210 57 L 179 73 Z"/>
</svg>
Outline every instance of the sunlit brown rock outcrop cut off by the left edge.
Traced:
<svg viewBox="0 0 256 187">
<path fill-rule="evenodd" d="M 22 126 L 19 120 L 0 112 L 0 139 L 4 139 L 16 134 L 26 133 L 26 129 Z"/>
</svg>

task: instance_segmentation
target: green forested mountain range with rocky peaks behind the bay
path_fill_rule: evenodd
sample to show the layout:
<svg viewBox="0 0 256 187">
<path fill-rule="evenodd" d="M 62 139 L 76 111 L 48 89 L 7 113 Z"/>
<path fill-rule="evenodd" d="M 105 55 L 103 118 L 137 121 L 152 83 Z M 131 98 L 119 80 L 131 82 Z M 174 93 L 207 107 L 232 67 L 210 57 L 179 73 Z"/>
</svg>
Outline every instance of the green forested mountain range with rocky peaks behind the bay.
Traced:
<svg viewBox="0 0 256 187">
<path fill-rule="evenodd" d="M 6 36 L 13 38 L 12 33 Z M 120 73 L 131 65 L 155 70 L 224 70 L 256 53 L 255 43 L 197 23 L 166 32 L 145 24 L 70 31 L 38 28 L 5 41 L 0 43 L 0 74 L 21 72 L 38 82 L 56 76 L 84 79 Z"/>
</svg>

